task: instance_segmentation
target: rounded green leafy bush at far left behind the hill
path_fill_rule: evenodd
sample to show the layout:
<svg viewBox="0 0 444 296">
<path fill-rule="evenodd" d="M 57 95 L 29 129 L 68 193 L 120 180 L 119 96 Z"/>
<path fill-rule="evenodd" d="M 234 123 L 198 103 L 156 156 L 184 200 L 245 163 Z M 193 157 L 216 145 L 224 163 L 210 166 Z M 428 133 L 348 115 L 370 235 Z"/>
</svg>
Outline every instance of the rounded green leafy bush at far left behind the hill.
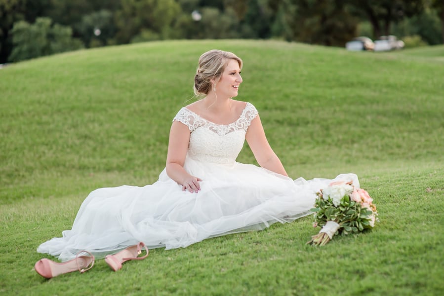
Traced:
<svg viewBox="0 0 444 296">
<path fill-rule="evenodd" d="M 10 31 L 13 49 L 9 61 L 18 62 L 82 47 L 81 41 L 72 37 L 70 27 L 51 26 L 51 23 L 50 18 L 37 18 L 34 24 L 14 23 Z"/>
</svg>

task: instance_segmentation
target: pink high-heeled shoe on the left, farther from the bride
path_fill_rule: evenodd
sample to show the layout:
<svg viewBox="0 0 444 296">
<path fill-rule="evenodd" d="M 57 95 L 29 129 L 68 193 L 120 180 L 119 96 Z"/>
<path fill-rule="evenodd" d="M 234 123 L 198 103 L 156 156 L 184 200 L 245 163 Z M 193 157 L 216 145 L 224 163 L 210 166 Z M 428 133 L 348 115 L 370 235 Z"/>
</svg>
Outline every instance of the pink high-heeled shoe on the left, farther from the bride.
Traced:
<svg viewBox="0 0 444 296">
<path fill-rule="evenodd" d="M 88 253 L 90 256 L 79 256 L 81 253 Z M 89 267 L 88 267 L 89 266 Z M 42 277 L 50 279 L 58 275 L 79 270 L 80 273 L 89 270 L 94 266 L 94 256 L 88 251 L 80 251 L 75 259 L 58 263 L 49 259 L 40 259 L 34 265 L 34 269 Z M 86 268 L 87 267 L 87 268 Z"/>
</svg>

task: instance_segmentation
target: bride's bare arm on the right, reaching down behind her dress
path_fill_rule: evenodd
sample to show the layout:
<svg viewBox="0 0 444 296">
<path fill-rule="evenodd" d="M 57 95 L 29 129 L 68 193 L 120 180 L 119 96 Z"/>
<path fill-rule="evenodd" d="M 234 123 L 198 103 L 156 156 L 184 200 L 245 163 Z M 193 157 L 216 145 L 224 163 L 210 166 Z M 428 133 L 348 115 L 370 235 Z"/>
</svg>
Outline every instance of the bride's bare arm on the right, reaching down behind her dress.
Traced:
<svg viewBox="0 0 444 296">
<path fill-rule="evenodd" d="M 261 167 L 288 177 L 281 160 L 267 141 L 259 115 L 251 121 L 245 139 Z"/>
</svg>

